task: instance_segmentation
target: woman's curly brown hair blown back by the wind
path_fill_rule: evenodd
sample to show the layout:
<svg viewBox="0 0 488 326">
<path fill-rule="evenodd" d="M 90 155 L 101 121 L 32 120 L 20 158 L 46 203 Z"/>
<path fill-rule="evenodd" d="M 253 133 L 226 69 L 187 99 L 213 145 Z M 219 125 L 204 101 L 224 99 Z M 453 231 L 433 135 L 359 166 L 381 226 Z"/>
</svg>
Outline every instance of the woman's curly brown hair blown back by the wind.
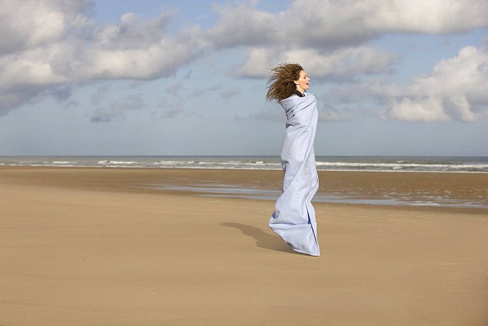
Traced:
<svg viewBox="0 0 488 326">
<path fill-rule="evenodd" d="M 290 97 L 297 87 L 293 81 L 300 79 L 300 71 L 304 70 L 298 63 L 280 63 L 271 70 L 271 77 L 268 79 L 269 85 L 268 93 L 266 94 L 266 100 L 268 101 L 280 101 Z"/>
</svg>

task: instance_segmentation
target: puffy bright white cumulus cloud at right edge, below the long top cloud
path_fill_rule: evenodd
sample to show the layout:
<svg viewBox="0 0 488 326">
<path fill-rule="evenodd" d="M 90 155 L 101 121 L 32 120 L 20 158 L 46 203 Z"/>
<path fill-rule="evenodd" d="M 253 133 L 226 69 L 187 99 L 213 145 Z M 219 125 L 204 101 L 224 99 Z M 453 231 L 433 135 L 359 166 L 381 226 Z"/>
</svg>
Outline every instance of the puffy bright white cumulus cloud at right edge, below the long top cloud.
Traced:
<svg viewBox="0 0 488 326">
<path fill-rule="evenodd" d="M 392 98 L 387 116 L 407 121 L 472 122 L 488 107 L 488 52 L 466 46 L 439 61 L 427 75 L 416 76 L 404 94 Z"/>
</svg>

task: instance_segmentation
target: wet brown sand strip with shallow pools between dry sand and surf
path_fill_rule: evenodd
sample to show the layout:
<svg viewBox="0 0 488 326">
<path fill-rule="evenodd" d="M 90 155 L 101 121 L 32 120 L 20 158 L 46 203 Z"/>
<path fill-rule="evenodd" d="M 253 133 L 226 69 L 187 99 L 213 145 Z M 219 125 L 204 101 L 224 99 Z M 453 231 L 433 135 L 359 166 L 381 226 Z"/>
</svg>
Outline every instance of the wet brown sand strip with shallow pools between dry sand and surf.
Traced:
<svg viewBox="0 0 488 326">
<path fill-rule="evenodd" d="M 90 175 L 87 178 L 82 176 Z M 313 202 L 488 213 L 488 174 L 318 171 Z M 261 169 L 0 166 L 5 181 L 103 191 L 276 201 L 283 172 Z"/>
</svg>

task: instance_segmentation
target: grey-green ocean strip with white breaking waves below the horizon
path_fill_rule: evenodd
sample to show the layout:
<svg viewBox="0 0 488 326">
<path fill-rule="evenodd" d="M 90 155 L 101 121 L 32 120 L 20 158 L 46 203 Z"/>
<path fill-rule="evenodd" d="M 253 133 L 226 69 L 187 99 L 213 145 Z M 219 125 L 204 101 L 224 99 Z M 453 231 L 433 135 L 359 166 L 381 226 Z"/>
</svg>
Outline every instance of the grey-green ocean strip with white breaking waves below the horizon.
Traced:
<svg viewBox="0 0 488 326">
<path fill-rule="evenodd" d="M 317 170 L 488 173 L 488 157 L 317 156 Z M 0 166 L 281 170 L 279 156 L 0 156 Z"/>
</svg>

